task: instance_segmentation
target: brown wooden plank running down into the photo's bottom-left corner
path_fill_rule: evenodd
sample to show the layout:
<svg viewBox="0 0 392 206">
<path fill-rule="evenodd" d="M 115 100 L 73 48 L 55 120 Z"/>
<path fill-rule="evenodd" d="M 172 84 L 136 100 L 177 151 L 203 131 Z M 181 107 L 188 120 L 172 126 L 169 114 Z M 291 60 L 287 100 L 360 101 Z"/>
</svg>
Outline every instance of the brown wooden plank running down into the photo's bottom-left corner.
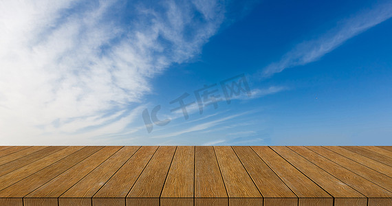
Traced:
<svg viewBox="0 0 392 206">
<path fill-rule="evenodd" d="M 41 185 L 47 183 L 47 181 L 50 181 L 54 177 L 65 172 L 101 148 L 102 146 L 91 146 L 78 150 L 78 152 L 74 152 L 72 155 L 61 159 L 61 161 L 57 161 L 47 168 L 44 168 L 43 170 L 28 176 L 27 178 L 15 183 L 14 185 L 11 185 L 10 187 L 7 187 L 4 190 L 1 190 L 0 198 L 12 197 L 15 202 L 19 202 L 20 198 L 23 198 L 30 192 L 36 190 L 38 187 L 41 187 Z"/>
</svg>

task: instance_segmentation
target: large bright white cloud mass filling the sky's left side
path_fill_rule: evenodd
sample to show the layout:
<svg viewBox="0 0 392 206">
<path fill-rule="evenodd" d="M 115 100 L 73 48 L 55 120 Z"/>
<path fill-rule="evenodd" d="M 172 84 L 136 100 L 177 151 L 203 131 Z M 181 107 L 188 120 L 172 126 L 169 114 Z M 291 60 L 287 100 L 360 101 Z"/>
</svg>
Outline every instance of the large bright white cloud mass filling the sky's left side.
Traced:
<svg viewBox="0 0 392 206">
<path fill-rule="evenodd" d="M 219 1 L 141 1 L 124 24 L 119 4 L 0 2 L 1 144 L 94 144 L 121 132 L 149 80 L 198 54 L 225 12 Z"/>
</svg>

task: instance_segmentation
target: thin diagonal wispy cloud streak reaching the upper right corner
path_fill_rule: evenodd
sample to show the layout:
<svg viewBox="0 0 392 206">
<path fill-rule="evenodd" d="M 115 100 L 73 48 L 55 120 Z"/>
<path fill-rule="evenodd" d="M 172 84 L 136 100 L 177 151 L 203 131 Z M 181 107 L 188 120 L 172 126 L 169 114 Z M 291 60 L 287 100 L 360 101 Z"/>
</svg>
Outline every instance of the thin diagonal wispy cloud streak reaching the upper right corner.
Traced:
<svg viewBox="0 0 392 206">
<path fill-rule="evenodd" d="M 320 38 L 305 41 L 287 52 L 279 62 L 274 62 L 261 71 L 261 76 L 268 77 L 274 73 L 279 73 L 284 69 L 306 65 L 320 59 L 325 54 L 331 52 L 349 38 L 356 36 L 369 28 L 386 21 L 392 16 L 392 3 L 382 3 L 376 5 L 371 10 L 360 12 L 355 16 L 339 23 L 338 27 L 330 30 Z"/>
</svg>

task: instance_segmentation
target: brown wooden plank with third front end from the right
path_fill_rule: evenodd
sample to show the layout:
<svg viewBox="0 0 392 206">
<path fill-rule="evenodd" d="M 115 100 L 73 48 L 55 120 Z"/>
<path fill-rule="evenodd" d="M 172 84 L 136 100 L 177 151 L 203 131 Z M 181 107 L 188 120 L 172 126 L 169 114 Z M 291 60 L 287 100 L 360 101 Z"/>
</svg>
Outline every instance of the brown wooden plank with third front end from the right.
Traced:
<svg viewBox="0 0 392 206">
<path fill-rule="evenodd" d="M 298 196 L 298 205 L 333 205 L 333 198 L 293 165 L 267 146 L 252 146 L 254 152 Z"/>
</svg>

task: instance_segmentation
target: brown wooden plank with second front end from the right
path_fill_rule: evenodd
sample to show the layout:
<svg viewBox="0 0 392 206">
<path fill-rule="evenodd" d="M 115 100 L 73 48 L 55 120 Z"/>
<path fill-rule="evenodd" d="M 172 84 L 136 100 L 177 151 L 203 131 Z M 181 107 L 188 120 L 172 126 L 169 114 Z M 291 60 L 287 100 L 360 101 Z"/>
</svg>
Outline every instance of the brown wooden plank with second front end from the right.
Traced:
<svg viewBox="0 0 392 206">
<path fill-rule="evenodd" d="M 320 185 L 325 191 L 334 197 L 334 205 L 367 205 L 367 198 L 358 191 L 353 190 L 342 181 L 325 172 L 312 162 L 298 155 L 290 148 L 283 146 L 271 146 L 286 161 L 294 165 L 295 168 L 303 172 L 314 183 Z"/>
</svg>

